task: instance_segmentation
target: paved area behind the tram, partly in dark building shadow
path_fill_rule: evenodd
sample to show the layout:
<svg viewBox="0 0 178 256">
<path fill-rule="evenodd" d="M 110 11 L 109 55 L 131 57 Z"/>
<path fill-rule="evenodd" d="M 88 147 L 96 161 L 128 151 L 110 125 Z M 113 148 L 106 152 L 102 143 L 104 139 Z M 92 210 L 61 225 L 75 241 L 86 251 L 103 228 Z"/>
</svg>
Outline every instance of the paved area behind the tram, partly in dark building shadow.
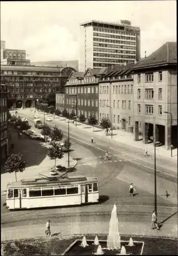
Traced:
<svg viewBox="0 0 178 256">
<path fill-rule="evenodd" d="M 24 161 L 27 161 L 26 166 L 28 166 L 23 173 L 17 173 L 17 181 L 24 178 L 39 177 L 39 173 L 44 175 L 49 173 L 50 169 L 54 167 L 54 160 L 50 160 L 49 157 L 46 156 L 48 143 L 46 145 L 45 142 L 31 140 L 24 134 L 22 134 L 22 138 L 18 140 L 16 131 L 11 128 L 10 132 L 11 143 L 13 142 L 15 145 L 13 153 L 22 153 Z M 28 147 L 28 144 L 30 144 L 32 148 L 30 148 L 30 146 Z M 39 147 L 37 148 L 37 146 Z M 77 164 L 77 160 L 70 156 L 69 163 L 70 167 L 74 167 Z M 62 159 L 56 160 L 56 166 L 59 164 L 68 167 L 67 154 L 64 154 Z M 15 173 L 1 174 L 1 191 L 6 191 L 7 183 L 9 182 L 15 182 Z"/>
</svg>

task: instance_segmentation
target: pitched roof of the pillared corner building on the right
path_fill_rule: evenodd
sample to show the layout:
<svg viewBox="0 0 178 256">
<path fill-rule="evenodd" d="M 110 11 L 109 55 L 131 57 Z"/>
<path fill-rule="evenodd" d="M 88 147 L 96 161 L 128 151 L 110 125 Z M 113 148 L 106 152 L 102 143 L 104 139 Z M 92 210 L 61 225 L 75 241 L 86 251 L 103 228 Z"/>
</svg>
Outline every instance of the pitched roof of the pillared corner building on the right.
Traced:
<svg viewBox="0 0 178 256">
<path fill-rule="evenodd" d="M 161 46 L 158 50 L 151 53 L 148 57 L 144 58 L 139 63 L 137 63 L 134 69 L 161 66 L 165 64 L 176 64 L 176 48 L 176 42 L 166 42 L 166 44 Z"/>
</svg>

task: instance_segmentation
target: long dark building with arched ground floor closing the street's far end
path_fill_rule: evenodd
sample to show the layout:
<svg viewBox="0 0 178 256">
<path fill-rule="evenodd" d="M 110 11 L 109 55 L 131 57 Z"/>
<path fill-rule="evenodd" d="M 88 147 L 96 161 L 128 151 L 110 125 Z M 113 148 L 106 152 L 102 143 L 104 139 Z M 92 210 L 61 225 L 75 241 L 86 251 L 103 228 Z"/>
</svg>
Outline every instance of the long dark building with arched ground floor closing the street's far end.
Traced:
<svg viewBox="0 0 178 256">
<path fill-rule="evenodd" d="M 39 98 L 64 88 L 73 68 L 1 66 L 1 83 L 8 87 L 8 108 L 30 108 Z"/>
</svg>

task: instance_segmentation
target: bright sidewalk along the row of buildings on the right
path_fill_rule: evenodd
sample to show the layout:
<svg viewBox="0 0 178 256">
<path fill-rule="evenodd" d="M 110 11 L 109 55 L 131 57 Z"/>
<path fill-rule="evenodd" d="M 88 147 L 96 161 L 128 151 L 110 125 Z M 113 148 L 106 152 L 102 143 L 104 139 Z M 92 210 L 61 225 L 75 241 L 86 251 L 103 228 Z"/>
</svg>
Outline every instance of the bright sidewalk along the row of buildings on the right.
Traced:
<svg viewBox="0 0 178 256">
<path fill-rule="evenodd" d="M 64 117 L 58 117 L 56 116 L 56 119 L 58 119 L 59 121 L 61 121 L 62 123 L 68 123 L 68 119 L 64 118 Z M 73 127 L 75 127 L 75 122 L 74 124 L 72 124 Z M 130 145 L 132 147 L 136 147 L 139 148 L 140 150 L 145 150 L 145 148 L 147 147 L 148 153 L 154 154 L 154 145 L 153 143 L 149 143 L 149 144 L 143 144 L 142 140 L 141 140 L 141 136 L 140 136 L 140 141 L 134 141 L 134 134 L 133 133 L 129 133 L 126 131 L 122 131 L 122 130 L 113 130 L 113 139 L 111 138 L 111 133 L 106 136 L 104 134 L 104 130 L 98 127 L 94 126 L 94 131 L 93 131 L 93 127 L 92 125 L 89 124 L 83 124 L 81 122 L 77 121 L 77 127 L 76 129 L 80 129 L 80 130 L 85 130 L 86 132 L 90 133 L 91 136 L 100 136 L 100 137 L 104 137 L 108 140 L 113 140 L 115 142 L 118 143 L 122 143 L 122 144 L 126 144 L 126 145 Z M 177 162 L 177 148 L 175 148 L 172 151 L 172 157 L 171 157 L 171 153 L 170 151 L 165 150 L 164 146 L 160 146 L 160 147 L 156 147 L 157 153 L 162 156 L 162 157 L 166 157 L 168 159 L 174 160 Z"/>
</svg>

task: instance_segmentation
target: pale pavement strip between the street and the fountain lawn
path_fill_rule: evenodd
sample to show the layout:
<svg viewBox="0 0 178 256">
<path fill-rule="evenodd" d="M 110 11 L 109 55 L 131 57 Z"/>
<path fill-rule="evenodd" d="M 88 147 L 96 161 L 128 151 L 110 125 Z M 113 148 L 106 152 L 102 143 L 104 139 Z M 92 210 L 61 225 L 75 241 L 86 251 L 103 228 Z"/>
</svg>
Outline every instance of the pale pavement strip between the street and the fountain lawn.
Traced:
<svg viewBox="0 0 178 256">
<path fill-rule="evenodd" d="M 177 225 L 164 224 L 160 230 L 150 228 L 151 223 L 118 222 L 119 233 L 122 235 L 139 235 L 150 237 L 177 238 Z M 72 236 L 74 234 L 108 234 L 109 222 L 60 222 L 51 221 L 51 232 L 61 233 L 62 236 Z M 45 223 L 36 225 L 16 226 L 2 228 L 2 241 L 14 239 L 28 239 L 44 237 Z"/>
</svg>

